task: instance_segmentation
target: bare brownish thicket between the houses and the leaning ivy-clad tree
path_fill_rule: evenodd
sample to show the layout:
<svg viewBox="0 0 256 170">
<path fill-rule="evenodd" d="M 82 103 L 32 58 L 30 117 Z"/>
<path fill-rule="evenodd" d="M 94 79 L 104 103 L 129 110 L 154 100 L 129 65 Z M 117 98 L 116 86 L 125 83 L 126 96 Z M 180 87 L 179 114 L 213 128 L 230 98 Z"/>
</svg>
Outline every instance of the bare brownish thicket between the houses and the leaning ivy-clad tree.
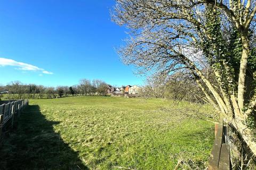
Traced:
<svg viewBox="0 0 256 170">
<path fill-rule="evenodd" d="M 210 77 L 210 75 L 207 75 Z M 212 82 L 214 83 L 214 82 Z M 164 98 L 191 103 L 209 103 L 196 81 L 188 74 L 163 75 L 155 74 L 147 78 L 145 86 L 141 88 L 140 96 L 145 98 Z"/>
</svg>

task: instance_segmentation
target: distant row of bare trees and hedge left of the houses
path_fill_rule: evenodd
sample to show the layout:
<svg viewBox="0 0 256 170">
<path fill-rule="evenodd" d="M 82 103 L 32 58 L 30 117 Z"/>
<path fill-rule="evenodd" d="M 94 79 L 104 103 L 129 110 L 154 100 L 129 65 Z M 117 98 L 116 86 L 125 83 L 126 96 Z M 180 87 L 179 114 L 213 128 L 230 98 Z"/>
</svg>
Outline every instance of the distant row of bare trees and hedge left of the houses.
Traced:
<svg viewBox="0 0 256 170">
<path fill-rule="evenodd" d="M 82 79 L 74 86 L 46 87 L 37 84 L 24 84 L 13 81 L 0 86 L 0 99 L 42 99 L 67 96 L 106 96 L 108 84 L 102 80 Z"/>
</svg>

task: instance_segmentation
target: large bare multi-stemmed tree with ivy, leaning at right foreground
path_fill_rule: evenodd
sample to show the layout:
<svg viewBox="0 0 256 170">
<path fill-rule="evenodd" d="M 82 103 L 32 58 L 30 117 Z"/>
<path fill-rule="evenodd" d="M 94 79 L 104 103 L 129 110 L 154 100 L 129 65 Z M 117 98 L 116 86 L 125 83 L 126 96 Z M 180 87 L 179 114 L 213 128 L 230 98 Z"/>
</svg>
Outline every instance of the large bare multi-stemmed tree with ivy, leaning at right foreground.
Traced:
<svg viewBox="0 0 256 170">
<path fill-rule="evenodd" d="M 189 73 L 256 154 L 245 123 L 256 106 L 255 13 L 256 1 L 116 0 L 113 20 L 130 29 L 119 50 L 125 64 L 138 73 Z"/>
</svg>

